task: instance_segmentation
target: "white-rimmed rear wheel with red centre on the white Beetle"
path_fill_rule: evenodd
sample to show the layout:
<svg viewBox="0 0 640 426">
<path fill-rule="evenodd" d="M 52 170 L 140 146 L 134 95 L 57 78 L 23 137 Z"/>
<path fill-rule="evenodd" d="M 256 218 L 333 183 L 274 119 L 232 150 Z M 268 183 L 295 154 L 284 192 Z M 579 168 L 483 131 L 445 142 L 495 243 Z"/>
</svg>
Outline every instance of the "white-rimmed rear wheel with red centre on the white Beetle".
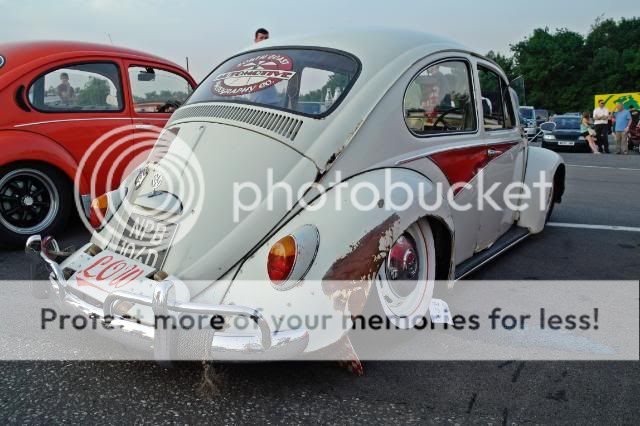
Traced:
<svg viewBox="0 0 640 426">
<path fill-rule="evenodd" d="M 389 322 L 410 329 L 427 318 L 436 276 L 435 244 L 426 220 L 411 225 L 393 244 L 376 279 Z"/>
</svg>

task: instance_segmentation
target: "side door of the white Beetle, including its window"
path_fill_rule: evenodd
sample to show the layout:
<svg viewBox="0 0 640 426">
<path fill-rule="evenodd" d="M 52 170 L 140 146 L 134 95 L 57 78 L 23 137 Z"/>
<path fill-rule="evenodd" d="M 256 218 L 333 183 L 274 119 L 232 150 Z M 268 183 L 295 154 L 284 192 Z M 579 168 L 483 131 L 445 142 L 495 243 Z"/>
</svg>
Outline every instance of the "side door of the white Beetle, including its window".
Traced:
<svg viewBox="0 0 640 426">
<path fill-rule="evenodd" d="M 476 61 L 479 96 L 482 100 L 482 131 L 486 165 L 478 175 L 480 226 L 475 251 L 490 247 L 517 219 L 507 193 L 520 193 L 526 139 L 517 126 L 511 92 L 502 73 L 489 62 Z"/>
</svg>

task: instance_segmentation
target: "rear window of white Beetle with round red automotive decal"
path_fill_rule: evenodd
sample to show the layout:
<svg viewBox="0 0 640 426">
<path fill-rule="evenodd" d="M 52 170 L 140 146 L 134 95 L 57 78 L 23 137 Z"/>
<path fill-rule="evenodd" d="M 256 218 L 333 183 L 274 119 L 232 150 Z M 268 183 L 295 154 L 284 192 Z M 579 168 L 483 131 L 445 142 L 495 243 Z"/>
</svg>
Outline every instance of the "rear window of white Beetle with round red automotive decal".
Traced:
<svg viewBox="0 0 640 426">
<path fill-rule="evenodd" d="M 229 59 L 198 86 L 187 104 L 242 102 L 325 116 L 359 72 L 342 53 L 313 49 L 261 50 Z"/>
</svg>

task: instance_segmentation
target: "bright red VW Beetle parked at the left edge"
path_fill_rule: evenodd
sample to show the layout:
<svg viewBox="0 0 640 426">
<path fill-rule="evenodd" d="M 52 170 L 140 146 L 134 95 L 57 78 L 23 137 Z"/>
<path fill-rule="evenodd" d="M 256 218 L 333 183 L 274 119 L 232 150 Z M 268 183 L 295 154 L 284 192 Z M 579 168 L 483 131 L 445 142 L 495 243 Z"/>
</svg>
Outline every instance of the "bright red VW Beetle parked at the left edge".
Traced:
<svg viewBox="0 0 640 426">
<path fill-rule="evenodd" d="M 182 67 L 130 49 L 0 44 L 0 244 L 59 230 L 73 210 L 80 164 L 88 211 L 91 190 L 116 188 L 139 162 L 136 133 L 163 127 L 195 86 Z M 83 160 L 99 139 L 96 154 Z"/>
</svg>

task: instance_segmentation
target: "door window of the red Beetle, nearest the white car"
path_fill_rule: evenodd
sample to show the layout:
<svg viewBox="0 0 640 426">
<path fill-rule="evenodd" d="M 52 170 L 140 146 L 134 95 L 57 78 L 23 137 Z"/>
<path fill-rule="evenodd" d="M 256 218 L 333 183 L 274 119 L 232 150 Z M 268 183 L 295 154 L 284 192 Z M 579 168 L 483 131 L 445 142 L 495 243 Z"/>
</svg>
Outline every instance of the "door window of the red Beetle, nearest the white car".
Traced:
<svg viewBox="0 0 640 426">
<path fill-rule="evenodd" d="M 193 90 L 185 78 L 151 67 L 129 67 L 129 81 L 135 112 L 173 112 Z"/>
</svg>

